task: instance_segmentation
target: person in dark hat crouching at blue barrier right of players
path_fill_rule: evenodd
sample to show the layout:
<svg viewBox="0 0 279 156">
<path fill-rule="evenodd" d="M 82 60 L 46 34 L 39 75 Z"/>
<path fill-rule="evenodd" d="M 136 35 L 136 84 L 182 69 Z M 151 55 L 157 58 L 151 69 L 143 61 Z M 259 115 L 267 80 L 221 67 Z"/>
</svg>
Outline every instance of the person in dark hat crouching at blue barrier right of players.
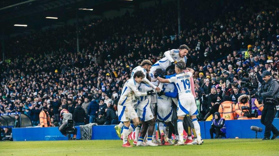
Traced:
<svg viewBox="0 0 279 156">
<path fill-rule="evenodd" d="M 216 112 L 214 114 L 214 119 L 212 120 L 211 128 L 209 131 L 211 139 L 213 139 L 213 133 L 216 134 L 215 139 L 226 137 L 225 119 L 220 117 L 219 112 Z"/>
</svg>

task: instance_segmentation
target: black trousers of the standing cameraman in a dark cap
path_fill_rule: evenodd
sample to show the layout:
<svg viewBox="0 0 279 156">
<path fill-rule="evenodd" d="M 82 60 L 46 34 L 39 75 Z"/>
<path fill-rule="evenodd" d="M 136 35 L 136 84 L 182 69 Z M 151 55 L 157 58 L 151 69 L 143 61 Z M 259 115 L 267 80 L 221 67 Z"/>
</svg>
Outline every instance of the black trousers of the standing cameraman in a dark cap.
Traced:
<svg viewBox="0 0 279 156">
<path fill-rule="evenodd" d="M 264 137 L 270 138 L 271 131 L 273 134 L 279 133 L 277 128 L 272 124 L 275 112 L 275 106 L 263 105 L 261 123 L 265 125 Z"/>
</svg>

